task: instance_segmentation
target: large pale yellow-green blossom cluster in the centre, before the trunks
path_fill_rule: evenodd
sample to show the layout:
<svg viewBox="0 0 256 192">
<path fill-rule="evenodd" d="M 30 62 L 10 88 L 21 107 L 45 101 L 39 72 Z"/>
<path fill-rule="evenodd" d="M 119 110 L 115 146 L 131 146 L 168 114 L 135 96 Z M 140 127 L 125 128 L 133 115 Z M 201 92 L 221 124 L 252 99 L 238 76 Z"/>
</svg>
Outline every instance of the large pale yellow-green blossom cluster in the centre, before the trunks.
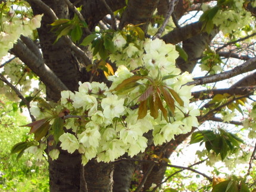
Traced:
<svg viewBox="0 0 256 192">
<path fill-rule="evenodd" d="M 77 92 L 61 92 L 60 104 L 56 107 L 68 113 L 64 127 L 73 132 L 69 131 L 59 137 L 60 146 L 68 153 L 78 150 L 82 154 L 83 164 L 92 158 L 110 162 L 124 153 L 132 157 L 144 152 L 148 143 L 145 133 L 149 130 L 152 130 L 153 141 L 157 145 L 174 139 L 177 134 L 188 133 L 193 126 L 198 126 L 196 116 L 199 111 L 189 106 L 191 86 L 183 86 L 192 80 L 192 75 L 180 75 L 180 70 L 175 66 L 178 53 L 174 45 L 166 44 L 160 39 L 141 40 L 140 46 L 135 46 L 139 41 L 126 45 L 126 39 L 118 32 L 113 42 L 119 52 L 115 53 L 115 59 L 126 58 L 128 62 L 123 59 L 115 60 L 125 65 L 119 65 L 115 74 L 108 76 L 108 80 L 113 81 L 112 86 L 108 88 L 105 83 L 98 82 L 80 83 Z M 140 64 L 131 65 L 131 59 L 138 58 L 141 59 Z M 130 69 L 137 67 L 147 71 L 144 76 L 137 74 L 141 80 L 135 86 L 117 90 L 124 80 L 136 76 Z M 168 118 L 163 118 L 162 115 L 152 117 L 151 110 L 146 110 L 145 116 L 139 118 L 139 109 L 135 106 L 141 102 L 139 97 L 145 94 L 149 84 L 154 84 L 156 89 L 162 87 L 166 92 L 171 90 L 173 97 L 176 97 L 171 104 L 172 112 L 168 109 L 170 103 L 160 99 L 161 106 L 165 108 L 161 110 L 168 111 Z M 47 118 L 43 109 L 35 104 L 30 109 L 32 114 Z M 160 109 L 156 110 L 161 113 Z M 52 159 L 57 159 L 59 152 L 54 149 L 49 154 Z"/>
</svg>

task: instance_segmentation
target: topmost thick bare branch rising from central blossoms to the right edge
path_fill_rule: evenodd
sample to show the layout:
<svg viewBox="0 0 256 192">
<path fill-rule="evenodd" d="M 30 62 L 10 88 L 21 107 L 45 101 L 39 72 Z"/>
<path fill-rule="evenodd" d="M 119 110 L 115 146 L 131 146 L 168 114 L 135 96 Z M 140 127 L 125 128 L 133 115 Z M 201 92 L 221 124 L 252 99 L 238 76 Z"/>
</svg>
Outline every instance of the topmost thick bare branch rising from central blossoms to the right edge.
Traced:
<svg viewBox="0 0 256 192">
<path fill-rule="evenodd" d="M 254 70 L 256 68 L 256 57 L 249 59 L 248 61 L 244 62 L 242 65 L 239 65 L 238 67 L 235 67 L 233 70 L 225 71 L 220 74 L 216 75 L 208 75 L 207 77 L 197 77 L 194 78 L 194 81 L 188 82 L 185 85 L 191 86 L 192 84 L 198 85 L 198 84 L 207 84 L 207 83 L 213 83 L 217 81 L 221 81 L 230 77 L 235 77 L 236 75 L 246 73 L 248 71 Z"/>
</svg>

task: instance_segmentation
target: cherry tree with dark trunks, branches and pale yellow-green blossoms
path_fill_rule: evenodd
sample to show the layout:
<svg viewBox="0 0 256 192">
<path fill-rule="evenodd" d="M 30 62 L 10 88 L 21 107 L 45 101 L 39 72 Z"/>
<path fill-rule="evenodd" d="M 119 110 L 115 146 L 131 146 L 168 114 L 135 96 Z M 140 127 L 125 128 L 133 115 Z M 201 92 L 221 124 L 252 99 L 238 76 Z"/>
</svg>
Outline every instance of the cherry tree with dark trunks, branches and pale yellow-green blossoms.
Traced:
<svg viewBox="0 0 256 192">
<path fill-rule="evenodd" d="M 29 109 L 35 136 L 11 152 L 45 153 L 51 191 L 155 191 L 184 169 L 205 189 L 254 187 L 255 0 L 0 2 L 0 93 Z M 205 146 L 194 165 L 246 173 L 171 164 L 189 138 Z"/>
</svg>

